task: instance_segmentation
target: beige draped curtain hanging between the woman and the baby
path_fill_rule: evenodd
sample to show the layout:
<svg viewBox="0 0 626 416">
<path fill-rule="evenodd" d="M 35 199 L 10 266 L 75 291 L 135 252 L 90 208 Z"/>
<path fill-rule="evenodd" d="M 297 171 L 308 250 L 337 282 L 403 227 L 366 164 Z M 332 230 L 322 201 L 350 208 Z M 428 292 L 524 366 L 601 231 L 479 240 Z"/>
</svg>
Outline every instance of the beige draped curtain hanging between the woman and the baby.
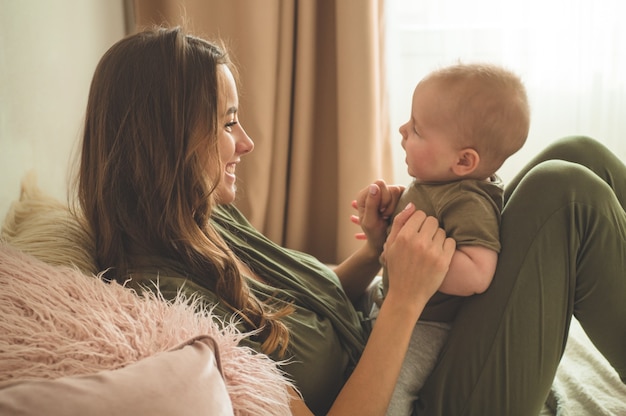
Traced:
<svg viewBox="0 0 626 416">
<path fill-rule="evenodd" d="M 237 206 L 272 240 L 325 262 L 360 242 L 351 201 L 391 178 L 383 0 L 135 0 L 136 27 L 226 42 L 256 148 Z"/>
</svg>

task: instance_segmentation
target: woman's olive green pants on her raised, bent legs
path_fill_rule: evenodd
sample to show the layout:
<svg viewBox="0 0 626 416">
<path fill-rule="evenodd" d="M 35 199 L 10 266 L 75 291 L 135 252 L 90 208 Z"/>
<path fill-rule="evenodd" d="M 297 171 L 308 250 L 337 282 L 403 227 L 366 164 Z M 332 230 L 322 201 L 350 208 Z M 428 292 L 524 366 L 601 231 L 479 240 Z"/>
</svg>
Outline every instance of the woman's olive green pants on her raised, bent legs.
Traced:
<svg viewBox="0 0 626 416">
<path fill-rule="evenodd" d="M 572 315 L 626 380 L 626 166 L 570 137 L 508 186 L 496 275 L 462 306 L 422 415 L 537 415 Z"/>
</svg>

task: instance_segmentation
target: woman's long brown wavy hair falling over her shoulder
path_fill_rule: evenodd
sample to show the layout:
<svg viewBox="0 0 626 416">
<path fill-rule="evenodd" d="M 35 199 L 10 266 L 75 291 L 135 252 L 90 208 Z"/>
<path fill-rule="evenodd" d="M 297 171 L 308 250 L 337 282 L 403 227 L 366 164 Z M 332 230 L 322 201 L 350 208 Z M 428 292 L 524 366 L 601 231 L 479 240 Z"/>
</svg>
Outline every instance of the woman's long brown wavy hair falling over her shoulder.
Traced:
<svg viewBox="0 0 626 416">
<path fill-rule="evenodd" d="M 218 65 L 236 74 L 225 48 L 180 28 L 113 45 L 91 83 L 78 202 L 106 278 L 126 280 L 138 256 L 177 261 L 260 331 L 264 352 L 282 354 L 287 308 L 274 311 L 251 293 L 209 223 L 222 169 Z"/>
</svg>

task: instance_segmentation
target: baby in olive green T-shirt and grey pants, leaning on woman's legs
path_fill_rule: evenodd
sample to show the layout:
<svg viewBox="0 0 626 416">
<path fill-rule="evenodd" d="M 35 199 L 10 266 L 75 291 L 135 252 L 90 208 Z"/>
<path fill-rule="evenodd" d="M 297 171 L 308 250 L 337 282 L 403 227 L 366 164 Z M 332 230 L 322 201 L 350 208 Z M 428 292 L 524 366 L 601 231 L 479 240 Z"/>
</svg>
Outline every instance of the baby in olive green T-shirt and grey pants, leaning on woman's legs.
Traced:
<svg viewBox="0 0 626 416">
<path fill-rule="evenodd" d="M 411 117 L 400 127 L 409 202 L 439 219 L 457 243 L 446 278 L 415 327 L 388 415 L 413 411 L 464 296 L 487 290 L 500 252 L 503 189 L 496 171 L 526 141 L 530 109 L 519 77 L 488 64 L 432 72 L 415 87 Z M 388 287 L 383 269 L 383 298 Z M 377 314 L 377 306 L 373 317 Z"/>
</svg>

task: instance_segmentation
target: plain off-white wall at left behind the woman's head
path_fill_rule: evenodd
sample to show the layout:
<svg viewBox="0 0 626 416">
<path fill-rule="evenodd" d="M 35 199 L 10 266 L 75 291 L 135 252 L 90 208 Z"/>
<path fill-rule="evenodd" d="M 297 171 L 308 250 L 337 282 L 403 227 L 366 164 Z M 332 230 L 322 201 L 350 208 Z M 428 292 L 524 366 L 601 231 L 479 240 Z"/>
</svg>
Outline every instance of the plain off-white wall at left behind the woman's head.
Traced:
<svg viewBox="0 0 626 416">
<path fill-rule="evenodd" d="M 122 36 L 123 0 L 0 0 L 0 220 L 33 169 L 66 200 L 91 76 Z"/>
</svg>

